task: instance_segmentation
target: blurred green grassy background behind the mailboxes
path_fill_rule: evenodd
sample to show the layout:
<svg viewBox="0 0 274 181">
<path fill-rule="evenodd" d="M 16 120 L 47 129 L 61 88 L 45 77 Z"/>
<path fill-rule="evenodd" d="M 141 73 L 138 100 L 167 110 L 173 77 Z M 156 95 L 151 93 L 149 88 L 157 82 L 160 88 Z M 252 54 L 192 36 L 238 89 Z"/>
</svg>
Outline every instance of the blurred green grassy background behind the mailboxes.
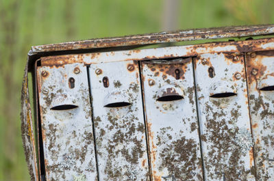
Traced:
<svg viewBox="0 0 274 181">
<path fill-rule="evenodd" d="M 0 180 L 29 180 L 20 129 L 32 45 L 171 29 L 274 23 L 273 0 L 0 0 Z"/>
</svg>

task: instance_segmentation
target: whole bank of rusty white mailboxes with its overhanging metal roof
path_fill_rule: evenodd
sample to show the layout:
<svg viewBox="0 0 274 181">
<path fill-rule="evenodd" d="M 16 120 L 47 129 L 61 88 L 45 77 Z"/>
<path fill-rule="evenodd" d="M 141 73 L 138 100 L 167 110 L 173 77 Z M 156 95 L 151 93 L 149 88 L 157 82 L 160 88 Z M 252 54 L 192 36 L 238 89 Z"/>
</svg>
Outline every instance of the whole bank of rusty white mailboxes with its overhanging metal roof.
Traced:
<svg viewBox="0 0 274 181">
<path fill-rule="evenodd" d="M 21 113 L 32 180 L 273 181 L 273 33 L 258 25 L 32 46 Z"/>
</svg>

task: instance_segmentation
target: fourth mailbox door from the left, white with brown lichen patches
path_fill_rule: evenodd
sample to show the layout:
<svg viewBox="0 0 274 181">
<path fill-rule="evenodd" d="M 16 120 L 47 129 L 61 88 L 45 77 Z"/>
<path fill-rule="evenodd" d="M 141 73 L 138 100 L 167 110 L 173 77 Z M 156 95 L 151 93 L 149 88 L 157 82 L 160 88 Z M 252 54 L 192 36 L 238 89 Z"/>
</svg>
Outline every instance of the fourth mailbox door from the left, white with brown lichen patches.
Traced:
<svg viewBox="0 0 274 181">
<path fill-rule="evenodd" d="M 255 180 L 243 55 L 195 59 L 205 180 Z"/>
</svg>

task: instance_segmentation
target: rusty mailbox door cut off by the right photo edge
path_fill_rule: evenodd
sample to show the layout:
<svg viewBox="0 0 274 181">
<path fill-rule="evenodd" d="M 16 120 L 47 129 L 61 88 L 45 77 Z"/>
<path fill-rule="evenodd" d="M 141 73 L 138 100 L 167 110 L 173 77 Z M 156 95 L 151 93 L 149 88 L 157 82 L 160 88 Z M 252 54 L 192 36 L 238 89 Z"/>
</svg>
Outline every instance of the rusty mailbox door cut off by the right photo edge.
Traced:
<svg viewBox="0 0 274 181">
<path fill-rule="evenodd" d="M 274 180 L 274 51 L 247 53 L 257 180 Z"/>
</svg>

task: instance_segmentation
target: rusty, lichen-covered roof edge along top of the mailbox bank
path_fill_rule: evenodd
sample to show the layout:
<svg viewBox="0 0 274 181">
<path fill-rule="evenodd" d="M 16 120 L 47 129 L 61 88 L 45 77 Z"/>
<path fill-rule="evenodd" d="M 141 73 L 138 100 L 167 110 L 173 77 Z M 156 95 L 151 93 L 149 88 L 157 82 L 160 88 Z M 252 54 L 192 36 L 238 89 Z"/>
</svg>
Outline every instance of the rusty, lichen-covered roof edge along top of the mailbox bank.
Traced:
<svg viewBox="0 0 274 181">
<path fill-rule="evenodd" d="M 258 36 L 274 33 L 274 25 L 253 25 L 244 27 L 217 27 L 208 29 L 189 29 L 172 32 L 151 33 L 136 36 L 103 38 L 60 44 L 32 46 L 32 54 L 50 51 L 70 51 L 79 49 L 105 48 L 117 46 L 132 46 L 140 44 L 157 44 L 182 42 L 188 40 L 207 40 L 217 38 L 232 38 Z"/>
</svg>

